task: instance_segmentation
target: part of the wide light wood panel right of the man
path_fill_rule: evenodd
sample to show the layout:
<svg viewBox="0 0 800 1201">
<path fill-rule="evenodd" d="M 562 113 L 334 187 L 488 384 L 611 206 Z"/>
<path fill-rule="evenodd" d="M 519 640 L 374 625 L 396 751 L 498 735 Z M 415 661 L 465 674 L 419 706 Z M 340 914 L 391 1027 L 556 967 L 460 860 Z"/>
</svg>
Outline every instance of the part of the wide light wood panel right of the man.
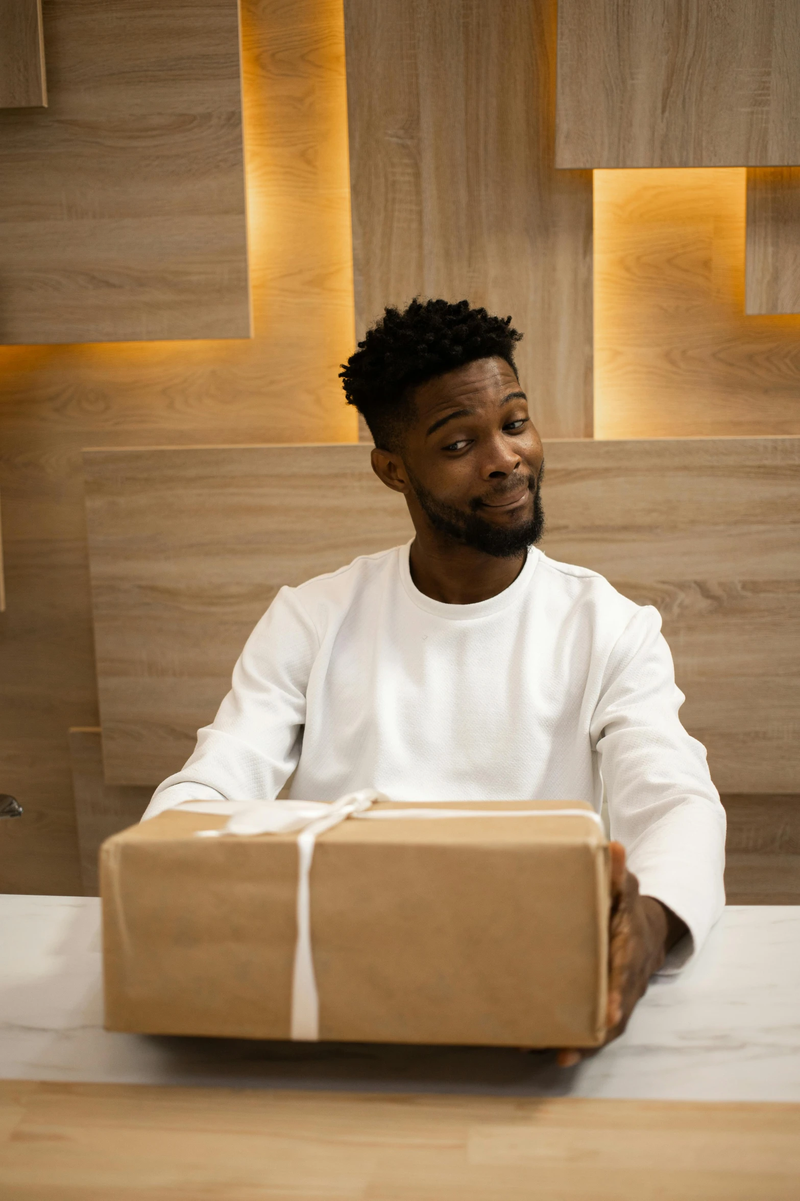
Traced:
<svg viewBox="0 0 800 1201">
<path fill-rule="evenodd" d="M 545 549 L 654 604 L 723 793 L 800 790 L 800 440 L 547 447 Z"/>
</svg>

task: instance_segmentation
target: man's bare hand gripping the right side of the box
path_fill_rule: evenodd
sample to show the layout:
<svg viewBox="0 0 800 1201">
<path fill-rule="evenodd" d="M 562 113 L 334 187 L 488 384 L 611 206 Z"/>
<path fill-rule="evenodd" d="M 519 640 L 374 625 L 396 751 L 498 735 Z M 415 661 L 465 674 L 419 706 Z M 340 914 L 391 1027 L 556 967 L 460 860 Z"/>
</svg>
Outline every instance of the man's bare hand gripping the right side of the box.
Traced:
<svg viewBox="0 0 800 1201">
<path fill-rule="evenodd" d="M 606 1042 L 622 1033 L 650 976 L 663 964 L 667 951 L 687 932 L 672 909 L 655 897 L 639 896 L 639 882 L 625 867 L 621 843 L 612 842 L 609 850 L 612 912 Z M 579 1059 L 579 1051 L 564 1050 L 558 1054 L 561 1068 L 572 1068 Z"/>
</svg>

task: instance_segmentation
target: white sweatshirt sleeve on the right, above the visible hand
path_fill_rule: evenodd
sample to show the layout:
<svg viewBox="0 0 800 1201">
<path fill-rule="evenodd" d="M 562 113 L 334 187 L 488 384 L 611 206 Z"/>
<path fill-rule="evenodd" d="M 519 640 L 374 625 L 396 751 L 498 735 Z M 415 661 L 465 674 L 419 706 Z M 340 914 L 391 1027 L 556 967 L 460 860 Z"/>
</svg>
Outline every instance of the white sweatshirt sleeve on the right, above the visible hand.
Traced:
<svg viewBox="0 0 800 1201">
<path fill-rule="evenodd" d="M 625 847 L 640 892 L 690 930 L 664 970 L 699 950 L 724 906 L 726 814 L 705 749 L 680 723 L 682 703 L 661 619 L 642 608 L 609 657 L 591 735 L 612 838 Z"/>
</svg>

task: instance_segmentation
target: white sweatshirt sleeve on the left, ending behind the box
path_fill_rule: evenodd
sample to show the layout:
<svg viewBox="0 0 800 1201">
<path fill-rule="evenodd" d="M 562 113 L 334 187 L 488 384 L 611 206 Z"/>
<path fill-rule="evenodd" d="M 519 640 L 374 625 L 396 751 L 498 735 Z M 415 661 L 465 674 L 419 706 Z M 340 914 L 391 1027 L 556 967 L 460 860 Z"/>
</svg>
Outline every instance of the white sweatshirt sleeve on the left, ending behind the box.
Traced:
<svg viewBox="0 0 800 1201">
<path fill-rule="evenodd" d="M 306 687 L 319 640 L 296 593 L 281 588 L 234 668 L 233 686 L 181 771 L 145 818 L 188 800 L 272 800 L 300 758 Z"/>
</svg>

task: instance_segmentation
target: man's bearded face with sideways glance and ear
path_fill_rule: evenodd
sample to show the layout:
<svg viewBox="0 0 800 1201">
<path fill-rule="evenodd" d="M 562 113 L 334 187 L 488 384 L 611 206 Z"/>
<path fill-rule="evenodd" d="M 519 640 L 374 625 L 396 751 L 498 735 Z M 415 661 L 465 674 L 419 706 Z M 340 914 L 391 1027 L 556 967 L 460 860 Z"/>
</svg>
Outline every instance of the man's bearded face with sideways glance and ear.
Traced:
<svg viewBox="0 0 800 1201">
<path fill-rule="evenodd" d="M 401 454 L 373 452 L 375 471 L 405 494 L 414 525 L 429 522 L 499 557 L 537 542 L 543 450 L 519 382 L 504 359 L 477 359 L 415 389 Z"/>
</svg>

